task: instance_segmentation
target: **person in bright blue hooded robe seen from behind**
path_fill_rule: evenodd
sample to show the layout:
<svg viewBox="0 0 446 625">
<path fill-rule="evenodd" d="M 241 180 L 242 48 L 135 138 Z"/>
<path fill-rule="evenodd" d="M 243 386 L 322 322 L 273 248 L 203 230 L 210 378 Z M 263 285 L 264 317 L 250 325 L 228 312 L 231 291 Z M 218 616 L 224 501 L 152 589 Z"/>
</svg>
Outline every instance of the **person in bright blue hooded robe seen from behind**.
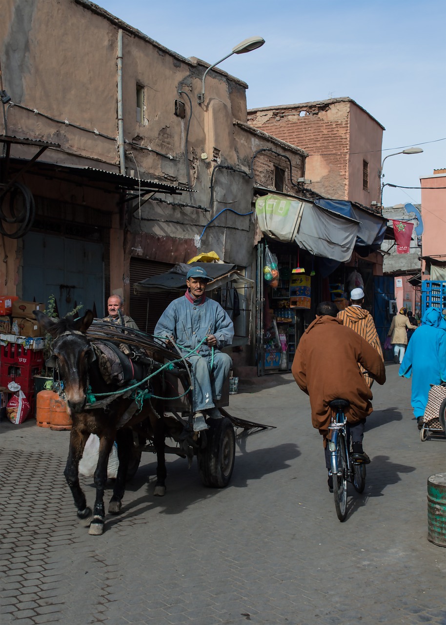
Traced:
<svg viewBox="0 0 446 625">
<path fill-rule="evenodd" d="M 399 375 L 412 376 L 412 397 L 419 429 L 422 427 L 431 384 L 446 382 L 446 321 L 438 308 L 428 308 L 409 341 Z"/>
</svg>

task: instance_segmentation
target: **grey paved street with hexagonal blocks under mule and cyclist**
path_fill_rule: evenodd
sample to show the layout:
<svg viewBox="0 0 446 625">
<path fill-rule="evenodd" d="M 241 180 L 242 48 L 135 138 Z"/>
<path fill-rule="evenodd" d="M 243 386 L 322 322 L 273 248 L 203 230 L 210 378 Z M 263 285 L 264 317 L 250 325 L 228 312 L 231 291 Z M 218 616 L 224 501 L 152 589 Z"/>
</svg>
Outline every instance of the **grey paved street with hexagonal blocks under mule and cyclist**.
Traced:
<svg viewBox="0 0 446 625">
<path fill-rule="evenodd" d="M 227 488 L 169 459 L 167 494 L 153 497 L 144 454 L 103 536 L 76 521 L 69 433 L 3 421 L 2 624 L 444 624 L 446 549 L 427 541 L 426 496 L 445 441 L 420 441 L 410 382 L 393 364 L 387 375 L 367 422 L 365 491 L 349 490 L 342 524 L 290 374 L 231 397 L 229 412 L 277 429 L 238 439 Z"/>
</svg>

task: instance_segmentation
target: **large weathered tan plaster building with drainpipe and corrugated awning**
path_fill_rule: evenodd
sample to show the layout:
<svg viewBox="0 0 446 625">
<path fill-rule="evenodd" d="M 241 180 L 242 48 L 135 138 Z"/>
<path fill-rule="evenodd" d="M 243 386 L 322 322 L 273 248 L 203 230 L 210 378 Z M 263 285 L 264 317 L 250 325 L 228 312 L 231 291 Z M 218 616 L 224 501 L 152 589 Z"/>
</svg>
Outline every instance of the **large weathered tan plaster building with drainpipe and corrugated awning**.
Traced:
<svg viewBox="0 0 446 625">
<path fill-rule="evenodd" d="M 2 222 L 2 290 L 98 316 L 116 292 L 142 316 L 134 282 L 202 251 L 252 274 L 257 163 L 257 184 L 276 153 L 299 178 L 305 151 L 247 125 L 247 84 L 214 68 L 199 104 L 208 63 L 96 4 L 3 4 L 2 202 L 17 222 Z"/>
</svg>

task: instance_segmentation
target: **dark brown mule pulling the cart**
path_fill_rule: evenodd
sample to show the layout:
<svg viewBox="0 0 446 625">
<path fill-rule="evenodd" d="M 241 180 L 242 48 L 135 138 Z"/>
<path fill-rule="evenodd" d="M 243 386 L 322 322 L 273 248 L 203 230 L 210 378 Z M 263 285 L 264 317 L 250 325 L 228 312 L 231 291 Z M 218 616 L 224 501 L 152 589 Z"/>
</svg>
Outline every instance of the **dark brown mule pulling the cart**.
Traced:
<svg viewBox="0 0 446 625">
<path fill-rule="evenodd" d="M 134 414 L 122 427 L 120 427 L 119 421 L 132 403 L 132 399 L 119 399 L 117 396 L 117 399 L 107 407 L 86 408 L 86 393 L 89 386 L 97 394 L 118 390 L 116 386 L 104 382 L 94 357 L 91 342 L 86 336 L 87 329 L 93 321 L 91 311 L 86 311 L 84 317 L 76 319 L 76 321 L 71 317 L 64 317 L 64 319 L 55 321 L 41 311 L 34 311 L 34 316 L 53 338 L 52 358 L 54 358 L 54 362 L 52 364 L 57 367 L 59 377 L 63 382 L 67 408 L 72 419 L 69 454 L 64 475 L 77 507 L 77 517 L 85 525 L 90 526 L 90 534 L 99 535 L 102 534 L 104 528 L 104 488 L 107 482 L 109 454 L 114 441 L 116 440 L 117 443 L 119 469 L 114 483 L 113 496 L 109 503 L 108 511 L 111 514 L 117 514 L 121 509 L 127 468 L 134 448 L 132 427 L 141 424 L 144 419 L 146 419 L 146 427 L 151 429 L 149 436 L 152 437 L 157 452 L 155 494 L 163 495 L 166 491 L 166 459 L 164 455 L 166 425 L 164 419 L 159 418 L 159 415 L 152 409 L 152 404 L 146 401 L 142 411 L 139 414 Z M 162 414 L 162 410 L 160 412 Z M 78 472 L 79 461 L 90 434 L 96 434 L 100 441 L 99 459 L 94 472 L 96 501 L 93 511 L 87 507 L 86 497 L 79 485 Z"/>
</svg>

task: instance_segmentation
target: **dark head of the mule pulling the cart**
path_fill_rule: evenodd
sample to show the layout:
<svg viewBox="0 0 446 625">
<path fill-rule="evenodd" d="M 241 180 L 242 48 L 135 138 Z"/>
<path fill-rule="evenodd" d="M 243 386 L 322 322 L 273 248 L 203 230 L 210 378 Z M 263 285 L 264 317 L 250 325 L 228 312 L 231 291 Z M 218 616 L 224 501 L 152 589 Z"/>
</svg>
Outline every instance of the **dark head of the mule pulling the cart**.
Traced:
<svg viewBox="0 0 446 625">
<path fill-rule="evenodd" d="M 86 404 L 89 366 L 94 351 L 86 331 L 93 321 L 93 313 L 83 317 L 51 319 L 44 312 L 33 311 L 39 324 L 52 336 L 52 354 L 46 361 L 48 367 L 57 367 L 64 382 L 68 411 L 82 412 Z"/>
</svg>

